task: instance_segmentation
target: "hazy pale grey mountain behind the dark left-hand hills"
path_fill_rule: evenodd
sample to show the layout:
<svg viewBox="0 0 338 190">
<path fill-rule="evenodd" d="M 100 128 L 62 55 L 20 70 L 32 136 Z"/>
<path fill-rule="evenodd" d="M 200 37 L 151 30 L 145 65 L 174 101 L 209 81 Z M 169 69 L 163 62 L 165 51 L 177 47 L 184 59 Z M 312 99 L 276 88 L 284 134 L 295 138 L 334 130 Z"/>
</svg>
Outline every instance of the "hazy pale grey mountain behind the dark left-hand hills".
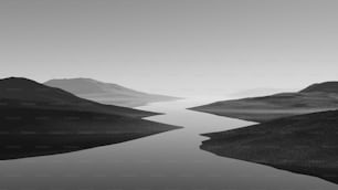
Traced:
<svg viewBox="0 0 338 190">
<path fill-rule="evenodd" d="M 44 83 L 102 104 L 138 107 L 154 102 L 175 101 L 177 97 L 137 92 L 124 86 L 91 78 L 51 80 Z"/>
</svg>

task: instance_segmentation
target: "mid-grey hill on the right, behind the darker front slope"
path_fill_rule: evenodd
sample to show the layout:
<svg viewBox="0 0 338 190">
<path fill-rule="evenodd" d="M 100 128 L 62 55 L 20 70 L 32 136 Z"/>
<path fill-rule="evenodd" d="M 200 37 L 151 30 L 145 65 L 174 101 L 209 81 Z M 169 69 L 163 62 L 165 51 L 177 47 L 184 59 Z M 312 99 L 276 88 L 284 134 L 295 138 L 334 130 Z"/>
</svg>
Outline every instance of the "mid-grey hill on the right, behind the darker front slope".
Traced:
<svg viewBox="0 0 338 190">
<path fill-rule="evenodd" d="M 191 109 L 261 123 L 337 108 L 338 82 L 328 82 L 311 85 L 297 93 L 222 101 Z"/>
</svg>

